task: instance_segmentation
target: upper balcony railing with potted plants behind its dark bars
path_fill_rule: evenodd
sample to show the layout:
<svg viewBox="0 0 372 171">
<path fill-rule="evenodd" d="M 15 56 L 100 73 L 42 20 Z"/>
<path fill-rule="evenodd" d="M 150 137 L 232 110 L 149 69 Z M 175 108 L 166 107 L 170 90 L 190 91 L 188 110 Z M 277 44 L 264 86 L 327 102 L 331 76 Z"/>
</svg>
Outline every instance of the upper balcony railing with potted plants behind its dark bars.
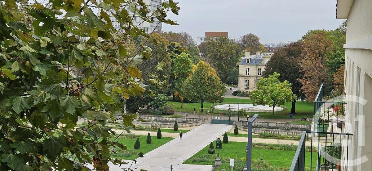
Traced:
<svg viewBox="0 0 372 171">
<path fill-rule="evenodd" d="M 313 131 L 342 132 L 345 123 L 345 105 L 343 100 L 343 84 L 321 84 L 314 100 Z M 318 130 L 319 120 L 329 120 L 329 126 Z M 325 130 L 324 130 L 325 128 Z"/>
</svg>

